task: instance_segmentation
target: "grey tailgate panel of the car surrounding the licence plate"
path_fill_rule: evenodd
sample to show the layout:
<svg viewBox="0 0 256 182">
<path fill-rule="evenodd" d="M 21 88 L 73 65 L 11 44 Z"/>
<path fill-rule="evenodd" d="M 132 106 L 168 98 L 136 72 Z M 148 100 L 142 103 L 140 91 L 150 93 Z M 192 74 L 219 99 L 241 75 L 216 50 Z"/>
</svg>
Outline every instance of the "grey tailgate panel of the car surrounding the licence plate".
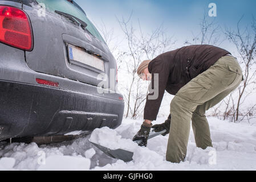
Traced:
<svg viewBox="0 0 256 182">
<path fill-rule="evenodd" d="M 99 72 L 71 64 L 68 61 L 66 43 L 100 55 L 104 60 L 107 78 L 110 77 L 109 69 L 116 69 L 115 58 L 107 45 L 90 35 L 89 32 L 51 11 L 46 11 L 46 16 L 38 16 L 38 10 L 35 8 L 23 5 L 23 10 L 29 15 L 34 32 L 34 49 L 31 52 L 26 52 L 27 65 L 34 71 L 78 80 L 91 85 L 99 85 L 104 81 L 97 77 Z M 91 41 L 86 34 L 91 37 Z M 109 88 L 109 85 L 110 79 L 103 86 Z M 114 89 L 112 88 L 112 90 Z"/>
</svg>

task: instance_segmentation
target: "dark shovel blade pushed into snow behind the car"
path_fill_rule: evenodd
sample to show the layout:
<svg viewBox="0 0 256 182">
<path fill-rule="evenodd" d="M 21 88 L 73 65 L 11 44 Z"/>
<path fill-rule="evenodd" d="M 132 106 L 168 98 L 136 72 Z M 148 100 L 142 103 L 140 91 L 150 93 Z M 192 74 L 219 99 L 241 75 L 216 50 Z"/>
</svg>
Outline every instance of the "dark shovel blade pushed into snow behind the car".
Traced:
<svg viewBox="0 0 256 182">
<path fill-rule="evenodd" d="M 129 162 L 132 160 L 132 156 L 133 156 L 133 152 L 127 151 L 127 150 L 123 150 L 121 148 L 116 149 L 116 150 L 111 150 L 107 147 L 103 147 L 100 146 L 99 144 L 93 143 L 97 148 L 99 148 L 99 150 L 103 151 L 104 154 L 108 155 L 111 158 L 114 159 L 121 159 L 124 162 Z"/>
</svg>

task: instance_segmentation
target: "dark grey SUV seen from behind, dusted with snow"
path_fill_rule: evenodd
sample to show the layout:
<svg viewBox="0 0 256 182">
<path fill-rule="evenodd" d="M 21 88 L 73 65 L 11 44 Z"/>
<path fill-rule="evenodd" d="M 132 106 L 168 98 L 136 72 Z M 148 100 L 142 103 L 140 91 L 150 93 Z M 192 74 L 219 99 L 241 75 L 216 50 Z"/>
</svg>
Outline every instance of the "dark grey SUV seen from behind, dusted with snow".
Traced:
<svg viewBox="0 0 256 182">
<path fill-rule="evenodd" d="M 116 128 L 116 85 L 116 60 L 74 1 L 0 1 L 0 140 Z"/>
</svg>

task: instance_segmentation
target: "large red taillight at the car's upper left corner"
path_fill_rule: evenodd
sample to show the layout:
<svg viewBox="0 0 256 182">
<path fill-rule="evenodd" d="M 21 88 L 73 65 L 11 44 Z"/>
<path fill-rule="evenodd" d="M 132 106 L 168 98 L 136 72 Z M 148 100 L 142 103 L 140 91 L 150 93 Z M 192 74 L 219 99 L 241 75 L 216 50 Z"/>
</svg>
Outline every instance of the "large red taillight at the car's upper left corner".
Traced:
<svg viewBox="0 0 256 182">
<path fill-rule="evenodd" d="M 32 30 L 29 17 L 21 9 L 0 6 L 0 42 L 31 51 Z"/>
</svg>

